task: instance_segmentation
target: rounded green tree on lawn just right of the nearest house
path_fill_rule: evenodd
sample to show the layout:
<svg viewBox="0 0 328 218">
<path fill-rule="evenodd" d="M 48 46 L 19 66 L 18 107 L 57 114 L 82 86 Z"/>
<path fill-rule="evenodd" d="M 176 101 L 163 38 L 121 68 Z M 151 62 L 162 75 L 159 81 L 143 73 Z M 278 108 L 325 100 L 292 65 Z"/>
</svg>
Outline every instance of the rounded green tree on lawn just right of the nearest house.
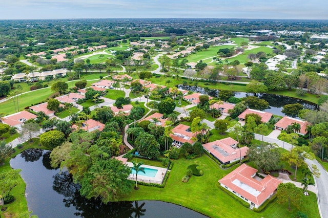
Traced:
<svg viewBox="0 0 328 218">
<path fill-rule="evenodd" d="M 299 207 L 302 203 L 302 193 L 293 183 L 280 183 L 277 188 L 278 204 L 288 203 L 288 210 L 292 210 L 291 204 Z"/>
</svg>

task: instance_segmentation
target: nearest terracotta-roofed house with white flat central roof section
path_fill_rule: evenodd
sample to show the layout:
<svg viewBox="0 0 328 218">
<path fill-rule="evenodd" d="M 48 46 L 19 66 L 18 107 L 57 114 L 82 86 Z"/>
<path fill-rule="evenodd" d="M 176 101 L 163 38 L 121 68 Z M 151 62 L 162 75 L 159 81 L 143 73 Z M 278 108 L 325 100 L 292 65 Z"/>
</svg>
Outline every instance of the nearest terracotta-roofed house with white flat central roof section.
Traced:
<svg viewBox="0 0 328 218">
<path fill-rule="evenodd" d="M 276 191 L 281 181 L 270 175 L 261 179 L 256 176 L 258 170 L 242 164 L 227 176 L 219 180 L 222 187 L 248 202 L 251 209 L 258 208 Z"/>
</svg>

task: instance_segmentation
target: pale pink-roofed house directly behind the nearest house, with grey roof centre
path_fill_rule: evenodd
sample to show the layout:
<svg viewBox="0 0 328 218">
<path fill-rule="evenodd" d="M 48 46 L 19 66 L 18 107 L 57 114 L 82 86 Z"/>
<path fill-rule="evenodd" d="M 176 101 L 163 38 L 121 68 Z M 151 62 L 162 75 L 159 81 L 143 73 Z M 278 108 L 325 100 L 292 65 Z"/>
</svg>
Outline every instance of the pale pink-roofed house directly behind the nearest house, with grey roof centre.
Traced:
<svg viewBox="0 0 328 218">
<path fill-rule="evenodd" d="M 215 157 L 221 164 L 230 164 L 241 159 L 244 159 L 247 155 L 248 147 L 237 147 L 238 142 L 232 138 L 225 138 L 216 140 L 214 142 L 203 144 L 205 150 L 207 150 L 213 157 Z"/>
</svg>

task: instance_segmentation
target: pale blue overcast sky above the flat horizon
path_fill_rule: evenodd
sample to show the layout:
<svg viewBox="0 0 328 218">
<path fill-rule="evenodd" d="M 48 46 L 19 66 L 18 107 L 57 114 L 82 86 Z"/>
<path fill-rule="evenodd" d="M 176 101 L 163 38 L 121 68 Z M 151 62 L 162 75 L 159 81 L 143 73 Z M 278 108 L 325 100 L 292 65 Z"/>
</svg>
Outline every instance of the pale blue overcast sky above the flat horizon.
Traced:
<svg viewBox="0 0 328 218">
<path fill-rule="evenodd" d="M 328 19 L 326 0 L 0 0 L 0 19 Z"/>
</svg>

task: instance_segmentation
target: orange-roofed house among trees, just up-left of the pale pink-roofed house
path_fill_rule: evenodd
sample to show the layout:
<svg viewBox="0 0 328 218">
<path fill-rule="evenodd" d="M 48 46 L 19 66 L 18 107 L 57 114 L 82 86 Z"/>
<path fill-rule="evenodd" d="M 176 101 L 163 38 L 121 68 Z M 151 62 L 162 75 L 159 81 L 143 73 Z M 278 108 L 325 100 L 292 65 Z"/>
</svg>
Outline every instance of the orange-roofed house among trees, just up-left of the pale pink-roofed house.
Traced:
<svg viewBox="0 0 328 218">
<path fill-rule="evenodd" d="M 185 142 L 195 143 L 192 138 L 196 137 L 196 134 L 190 131 L 190 126 L 179 124 L 172 129 L 172 133 L 170 137 L 173 139 L 173 143 L 178 145 L 183 145 Z"/>
</svg>

